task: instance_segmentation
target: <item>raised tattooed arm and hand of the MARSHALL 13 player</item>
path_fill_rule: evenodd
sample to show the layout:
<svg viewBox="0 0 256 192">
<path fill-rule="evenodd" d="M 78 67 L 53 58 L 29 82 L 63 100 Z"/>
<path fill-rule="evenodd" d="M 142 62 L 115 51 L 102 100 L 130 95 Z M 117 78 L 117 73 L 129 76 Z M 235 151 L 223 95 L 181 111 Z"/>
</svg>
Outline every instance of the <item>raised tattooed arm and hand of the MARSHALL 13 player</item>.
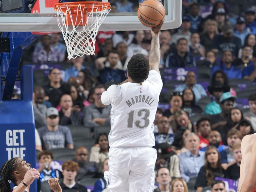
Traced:
<svg viewBox="0 0 256 192">
<path fill-rule="evenodd" d="M 151 28 L 152 33 L 152 40 L 151 40 L 151 49 L 149 53 L 149 70 L 156 70 L 159 74 L 159 65 L 160 65 L 160 58 L 161 58 L 161 52 L 160 52 L 160 44 L 159 44 L 159 32 L 164 24 L 164 19 L 162 19 L 161 23 Z"/>
</svg>

